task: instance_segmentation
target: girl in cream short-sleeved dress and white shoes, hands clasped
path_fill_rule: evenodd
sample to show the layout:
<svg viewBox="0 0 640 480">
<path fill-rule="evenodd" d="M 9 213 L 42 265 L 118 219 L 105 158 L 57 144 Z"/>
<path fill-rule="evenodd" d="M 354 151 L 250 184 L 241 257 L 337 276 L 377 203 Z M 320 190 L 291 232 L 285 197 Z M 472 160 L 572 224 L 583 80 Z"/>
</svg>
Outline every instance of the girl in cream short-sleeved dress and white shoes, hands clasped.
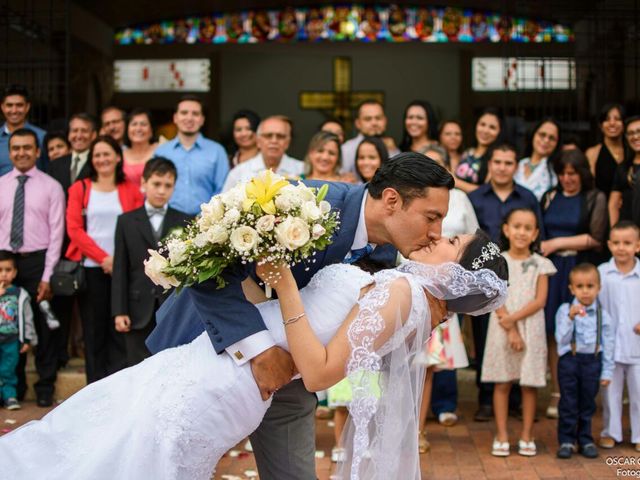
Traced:
<svg viewBox="0 0 640 480">
<path fill-rule="evenodd" d="M 547 338 L 544 305 L 550 275 L 556 268 L 548 258 L 534 253 L 539 226 L 535 212 L 517 208 L 507 214 L 502 225 L 509 265 L 507 303 L 491 314 L 482 362 L 482 382 L 495 382 L 493 411 L 496 438 L 491 454 L 509 455 L 507 417 L 509 391 L 514 381 L 522 389 L 522 433 L 518 453 L 536 455 L 533 422 L 537 389 L 546 384 Z"/>
</svg>

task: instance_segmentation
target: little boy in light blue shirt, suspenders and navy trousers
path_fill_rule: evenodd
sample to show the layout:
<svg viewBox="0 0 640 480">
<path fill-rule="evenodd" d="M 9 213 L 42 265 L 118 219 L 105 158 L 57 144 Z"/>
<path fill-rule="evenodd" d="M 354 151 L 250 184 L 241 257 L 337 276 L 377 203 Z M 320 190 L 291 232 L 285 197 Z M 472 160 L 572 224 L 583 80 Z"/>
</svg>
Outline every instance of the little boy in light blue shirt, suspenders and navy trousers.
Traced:
<svg viewBox="0 0 640 480">
<path fill-rule="evenodd" d="M 600 275 L 595 265 L 581 263 L 569 274 L 569 290 L 575 296 L 556 314 L 558 344 L 557 457 L 571 458 L 575 444 L 587 458 L 596 458 L 591 419 L 596 413 L 600 385 L 607 387 L 613 375 L 615 325 L 598 301 Z"/>
</svg>

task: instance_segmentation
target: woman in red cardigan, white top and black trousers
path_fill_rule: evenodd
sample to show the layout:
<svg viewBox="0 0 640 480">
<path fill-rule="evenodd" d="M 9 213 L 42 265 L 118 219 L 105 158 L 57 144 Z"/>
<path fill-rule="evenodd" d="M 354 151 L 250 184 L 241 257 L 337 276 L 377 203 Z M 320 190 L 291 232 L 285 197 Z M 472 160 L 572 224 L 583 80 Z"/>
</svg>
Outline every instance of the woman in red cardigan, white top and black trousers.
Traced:
<svg viewBox="0 0 640 480">
<path fill-rule="evenodd" d="M 141 207 L 140 187 L 126 181 L 122 150 L 100 136 L 89 151 L 89 178 L 69 188 L 66 257 L 82 262 L 86 289 L 80 294 L 87 382 L 125 367 L 124 342 L 111 318 L 111 270 L 118 215 Z"/>
</svg>

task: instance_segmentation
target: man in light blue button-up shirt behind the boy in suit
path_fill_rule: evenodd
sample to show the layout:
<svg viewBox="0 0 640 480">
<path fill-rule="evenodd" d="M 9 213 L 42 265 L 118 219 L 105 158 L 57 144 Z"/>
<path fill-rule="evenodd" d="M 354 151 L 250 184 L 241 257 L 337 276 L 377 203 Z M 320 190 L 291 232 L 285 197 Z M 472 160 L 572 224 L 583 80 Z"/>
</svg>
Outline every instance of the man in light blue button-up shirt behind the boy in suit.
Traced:
<svg viewBox="0 0 640 480">
<path fill-rule="evenodd" d="M 229 173 L 227 152 L 217 142 L 205 138 L 202 103 L 193 95 L 185 95 L 173 114 L 178 135 L 163 143 L 155 156 L 168 158 L 178 170 L 178 181 L 169 205 L 176 210 L 196 215 L 200 205 L 220 193 Z"/>
</svg>

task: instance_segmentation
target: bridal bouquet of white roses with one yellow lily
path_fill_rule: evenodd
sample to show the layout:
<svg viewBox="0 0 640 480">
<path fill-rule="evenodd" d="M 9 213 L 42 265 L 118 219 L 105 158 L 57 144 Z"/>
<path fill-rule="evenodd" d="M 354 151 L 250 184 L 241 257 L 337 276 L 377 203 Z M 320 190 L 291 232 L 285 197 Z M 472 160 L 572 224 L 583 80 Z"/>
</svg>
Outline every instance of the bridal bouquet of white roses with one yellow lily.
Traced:
<svg viewBox="0 0 640 480">
<path fill-rule="evenodd" d="M 299 263 L 323 250 L 338 227 L 329 189 L 293 185 L 270 170 L 215 195 L 201 214 L 149 250 L 145 273 L 165 289 L 214 279 L 237 262 Z"/>
</svg>

